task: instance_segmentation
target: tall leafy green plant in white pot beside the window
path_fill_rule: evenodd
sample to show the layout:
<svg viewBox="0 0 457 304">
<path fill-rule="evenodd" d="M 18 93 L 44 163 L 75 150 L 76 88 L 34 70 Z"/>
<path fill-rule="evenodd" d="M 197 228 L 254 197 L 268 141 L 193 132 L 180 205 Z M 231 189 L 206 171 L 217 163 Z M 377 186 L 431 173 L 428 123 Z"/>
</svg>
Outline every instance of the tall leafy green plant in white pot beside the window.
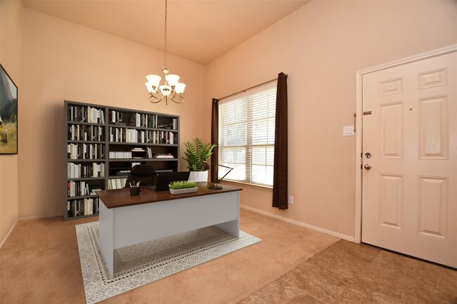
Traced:
<svg viewBox="0 0 457 304">
<path fill-rule="evenodd" d="M 186 146 L 186 151 L 184 152 L 183 159 L 187 161 L 187 168 L 191 171 L 189 180 L 206 182 L 208 180 L 208 171 L 202 168 L 202 162 L 210 159 L 212 150 L 216 147 L 216 144 L 204 144 L 197 137 L 193 140 L 193 143 L 188 140 L 184 145 Z"/>
</svg>

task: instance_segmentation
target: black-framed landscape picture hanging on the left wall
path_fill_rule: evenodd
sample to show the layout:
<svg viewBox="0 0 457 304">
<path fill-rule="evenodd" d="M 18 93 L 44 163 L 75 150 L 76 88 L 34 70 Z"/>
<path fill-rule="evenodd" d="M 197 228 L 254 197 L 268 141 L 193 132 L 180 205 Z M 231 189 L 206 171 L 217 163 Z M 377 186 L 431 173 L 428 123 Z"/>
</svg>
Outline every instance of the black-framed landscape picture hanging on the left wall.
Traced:
<svg viewBox="0 0 457 304">
<path fill-rule="evenodd" d="M 0 155 L 18 154 L 18 86 L 0 65 Z"/>
</svg>

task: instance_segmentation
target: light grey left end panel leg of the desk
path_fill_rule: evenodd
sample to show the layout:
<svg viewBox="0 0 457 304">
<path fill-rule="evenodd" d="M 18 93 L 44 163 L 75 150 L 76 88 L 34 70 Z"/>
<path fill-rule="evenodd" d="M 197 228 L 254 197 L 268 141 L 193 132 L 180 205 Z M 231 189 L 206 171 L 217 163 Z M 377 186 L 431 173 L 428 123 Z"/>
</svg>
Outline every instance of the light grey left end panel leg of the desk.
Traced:
<svg viewBox="0 0 457 304">
<path fill-rule="evenodd" d="M 103 258 L 105 259 L 105 265 L 108 268 L 110 279 L 112 279 L 114 271 L 114 211 L 106 208 L 103 201 L 100 200 L 100 203 L 98 242 Z"/>
</svg>

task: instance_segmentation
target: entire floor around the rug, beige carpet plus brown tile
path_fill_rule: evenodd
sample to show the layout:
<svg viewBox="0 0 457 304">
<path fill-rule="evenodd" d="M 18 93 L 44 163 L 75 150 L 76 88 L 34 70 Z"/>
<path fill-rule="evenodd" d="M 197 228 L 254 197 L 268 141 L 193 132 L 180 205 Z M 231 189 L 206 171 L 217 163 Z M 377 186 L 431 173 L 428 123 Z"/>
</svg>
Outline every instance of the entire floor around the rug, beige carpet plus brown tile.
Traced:
<svg viewBox="0 0 457 304">
<path fill-rule="evenodd" d="M 101 304 L 457 304 L 456 271 L 240 215 L 241 229 L 262 242 Z M 0 250 L 0 304 L 86 303 L 75 225 L 94 220 L 19 222 Z"/>
</svg>

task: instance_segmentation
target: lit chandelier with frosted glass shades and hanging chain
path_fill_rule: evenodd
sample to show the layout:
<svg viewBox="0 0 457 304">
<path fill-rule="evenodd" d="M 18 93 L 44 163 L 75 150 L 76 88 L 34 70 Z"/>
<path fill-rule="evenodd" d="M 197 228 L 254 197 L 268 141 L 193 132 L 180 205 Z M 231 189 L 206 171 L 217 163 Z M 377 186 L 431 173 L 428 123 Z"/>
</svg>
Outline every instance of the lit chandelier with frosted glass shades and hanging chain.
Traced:
<svg viewBox="0 0 457 304">
<path fill-rule="evenodd" d="M 179 76 L 175 74 L 168 74 L 167 69 L 167 0 L 165 0 L 165 56 L 162 72 L 165 74 L 165 84 L 160 86 L 162 77 L 158 75 L 148 75 L 146 79 L 146 88 L 150 93 L 149 101 L 151 103 L 160 103 L 165 98 L 165 104 L 168 105 L 168 100 L 174 103 L 183 103 L 183 93 L 186 84 L 179 82 Z"/>
</svg>

